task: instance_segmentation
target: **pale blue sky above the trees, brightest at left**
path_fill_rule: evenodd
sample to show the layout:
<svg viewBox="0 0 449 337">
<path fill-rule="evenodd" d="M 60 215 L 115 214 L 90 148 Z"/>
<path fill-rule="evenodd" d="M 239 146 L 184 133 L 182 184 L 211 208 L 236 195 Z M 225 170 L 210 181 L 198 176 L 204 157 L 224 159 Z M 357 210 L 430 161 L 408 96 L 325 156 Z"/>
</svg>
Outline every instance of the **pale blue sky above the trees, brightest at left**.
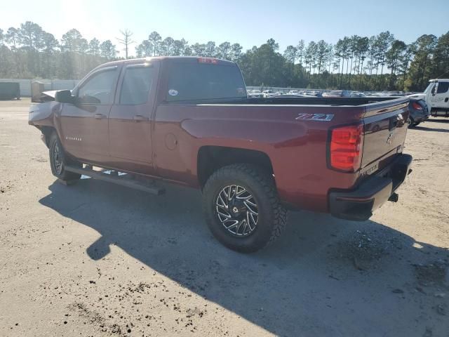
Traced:
<svg viewBox="0 0 449 337">
<path fill-rule="evenodd" d="M 76 28 L 88 40 L 110 39 L 118 50 L 120 29 L 133 32 L 134 46 L 153 31 L 189 44 L 239 43 L 243 50 L 269 38 L 283 51 L 300 39 L 335 43 L 345 35 L 369 37 L 385 30 L 410 43 L 422 34 L 445 34 L 448 18 L 448 0 L 20 0 L 20 6 L 3 1 L 0 7 L 4 31 L 32 21 L 60 39 Z"/>
</svg>

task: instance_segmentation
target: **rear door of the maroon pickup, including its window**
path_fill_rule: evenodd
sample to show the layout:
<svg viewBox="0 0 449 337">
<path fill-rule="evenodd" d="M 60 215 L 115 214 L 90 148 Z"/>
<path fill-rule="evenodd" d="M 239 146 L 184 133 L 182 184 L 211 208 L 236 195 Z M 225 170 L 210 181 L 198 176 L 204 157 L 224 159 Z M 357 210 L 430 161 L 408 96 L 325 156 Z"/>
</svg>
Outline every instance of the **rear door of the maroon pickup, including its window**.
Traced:
<svg viewBox="0 0 449 337">
<path fill-rule="evenodd" d="M 123 68 L 109 114 L 109 152 L 114 167 L 152 174 L 152 111 L 159 63 Z"/>
</svg>

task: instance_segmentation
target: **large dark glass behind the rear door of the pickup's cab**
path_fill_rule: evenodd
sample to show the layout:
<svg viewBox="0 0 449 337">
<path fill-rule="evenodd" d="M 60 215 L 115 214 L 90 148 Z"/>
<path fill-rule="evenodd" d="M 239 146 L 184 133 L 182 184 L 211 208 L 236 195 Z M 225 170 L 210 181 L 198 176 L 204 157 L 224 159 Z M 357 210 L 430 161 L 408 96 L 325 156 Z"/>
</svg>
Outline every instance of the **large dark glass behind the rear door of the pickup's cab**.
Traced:
<svg viewBox="0 0 449 337">
<path fill-rule="evenodd" d="M 167 91 L 168 102 L 246 98 L 245 84 L 235 65 L 173 63 Z"/>
</svg>

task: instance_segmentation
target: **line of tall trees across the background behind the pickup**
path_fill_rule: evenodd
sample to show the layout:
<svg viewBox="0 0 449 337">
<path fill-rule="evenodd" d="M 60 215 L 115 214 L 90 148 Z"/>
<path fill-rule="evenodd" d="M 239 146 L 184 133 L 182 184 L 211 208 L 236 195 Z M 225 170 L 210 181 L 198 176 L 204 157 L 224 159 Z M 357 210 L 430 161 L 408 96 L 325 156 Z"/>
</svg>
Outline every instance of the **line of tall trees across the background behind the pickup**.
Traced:
<svg viewBox="0 0 449 337">
<path fill-rule="evenodd" d="M 120 31 L 116 38 L 126 57 L 135 41 L 133 33 Z M 411 44 L 390 32 L 373 37 L 352 35 L 337 43 L 303 39 L 287 46 L 269 39 L 243 52 L 238 43 L 189 44 L 185 39 L 162 38 L 151 32 L 135 46 L 137 57 L 198 55 L 233 60 L 248 86 L 327 88 L 360 91 L 422 91 L 431 78 L 449 75 L 449 32 L 441 37 L 424 34 Z M 0 29 L 0 78 L 80 79 L 97 65 L 116 60 L 111 40 L 88 41 L 70 29 L 58 41 L 34 22 Z"/>
</svg>

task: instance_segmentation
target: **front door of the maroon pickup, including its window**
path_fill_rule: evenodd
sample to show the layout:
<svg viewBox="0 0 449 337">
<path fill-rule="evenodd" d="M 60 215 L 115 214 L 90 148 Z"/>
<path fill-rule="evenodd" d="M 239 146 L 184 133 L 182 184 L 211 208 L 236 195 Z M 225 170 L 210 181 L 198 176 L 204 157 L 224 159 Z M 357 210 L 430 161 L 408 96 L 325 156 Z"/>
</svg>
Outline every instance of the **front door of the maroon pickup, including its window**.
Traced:
<svg viewBox="0 0 449 337">
<path fill-rule="evenodd" d="M 104 161 L 109 157 L 108 121 L 114 102 L 118 67 L 93 72 L 76 88 L 76 104 L 65 104 L 60 112 L 62 145 L 75 157 Z"/>
</svg>

